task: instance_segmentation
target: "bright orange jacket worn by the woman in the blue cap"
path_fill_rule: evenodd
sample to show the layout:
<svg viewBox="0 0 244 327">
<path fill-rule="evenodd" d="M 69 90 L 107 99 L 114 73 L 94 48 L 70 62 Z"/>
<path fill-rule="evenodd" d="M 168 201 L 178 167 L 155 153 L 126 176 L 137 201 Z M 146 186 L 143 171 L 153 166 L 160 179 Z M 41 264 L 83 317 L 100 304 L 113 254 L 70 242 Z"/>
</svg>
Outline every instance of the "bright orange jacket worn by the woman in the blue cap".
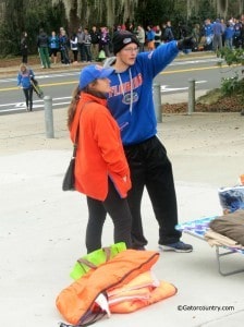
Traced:
<svg viewBox="0 0 244 327">
<path fill-rule="evenodd" d="M 108 195 L 108 178 L 121 197 L 131 189 L 120 129 L 106 105 L 106 99 L 82 93 L 70 129 L 74 143 L 78 126 L 75 190 L 99 201 Z"/>
</svg>

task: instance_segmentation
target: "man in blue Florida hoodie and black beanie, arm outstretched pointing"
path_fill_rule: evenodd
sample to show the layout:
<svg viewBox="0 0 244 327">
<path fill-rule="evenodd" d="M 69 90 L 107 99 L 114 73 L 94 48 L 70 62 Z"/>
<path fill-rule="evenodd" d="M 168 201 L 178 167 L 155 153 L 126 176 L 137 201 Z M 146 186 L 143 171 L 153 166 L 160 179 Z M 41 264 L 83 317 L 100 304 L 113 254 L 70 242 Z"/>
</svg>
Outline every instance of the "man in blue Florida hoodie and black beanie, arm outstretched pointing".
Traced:
<svg viewBox="0 0 244 327">
<path fill-rule="evenodd" d="M 191 44 L 191 45 L 190 45 Z M 166 251 L 191 252 L 192 245 L 180 241 L 178 205 L 171 162 L 157 137 L 157 120 L 152 100 L 152 80 L 179 53 L 192 46 L 192 38 L 160 45 L 150 52 L 138 52 L 138 40 L 127 31 L 114 33 L 112 45 L 115 58 L 105 66 L 114 72 L 109 76 L 111 92 L 108 107 L 120 130 L 129 161 L 132 190 L 129 204 L 132 213 L 133 247 L 144 250 L 141 203 L 146 186 L 159 223 L 159 247 Z"/>
</svg>

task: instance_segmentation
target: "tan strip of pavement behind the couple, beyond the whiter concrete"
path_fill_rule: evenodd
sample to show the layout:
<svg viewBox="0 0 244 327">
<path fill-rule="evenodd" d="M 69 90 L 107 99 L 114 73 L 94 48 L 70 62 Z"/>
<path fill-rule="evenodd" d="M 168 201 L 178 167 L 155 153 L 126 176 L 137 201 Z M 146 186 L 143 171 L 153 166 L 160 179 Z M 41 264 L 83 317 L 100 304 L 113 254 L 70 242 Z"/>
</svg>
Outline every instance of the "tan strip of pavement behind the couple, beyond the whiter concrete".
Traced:
<svg viewBox="0 0 244 327">
<path fill-rule="evenodd" d="M 175 179 L 216 186 L 235 184 L 244 170 L 243 125 L 240 113 L 162 114 L 158 136 L 172 159 Z M 54 138 L 47 137 L 44 111 L 1 116 L 0 155 L 30 150 L 69 154 L 66 109 L 53 110 L 53 133 Z"/>
</svg>

